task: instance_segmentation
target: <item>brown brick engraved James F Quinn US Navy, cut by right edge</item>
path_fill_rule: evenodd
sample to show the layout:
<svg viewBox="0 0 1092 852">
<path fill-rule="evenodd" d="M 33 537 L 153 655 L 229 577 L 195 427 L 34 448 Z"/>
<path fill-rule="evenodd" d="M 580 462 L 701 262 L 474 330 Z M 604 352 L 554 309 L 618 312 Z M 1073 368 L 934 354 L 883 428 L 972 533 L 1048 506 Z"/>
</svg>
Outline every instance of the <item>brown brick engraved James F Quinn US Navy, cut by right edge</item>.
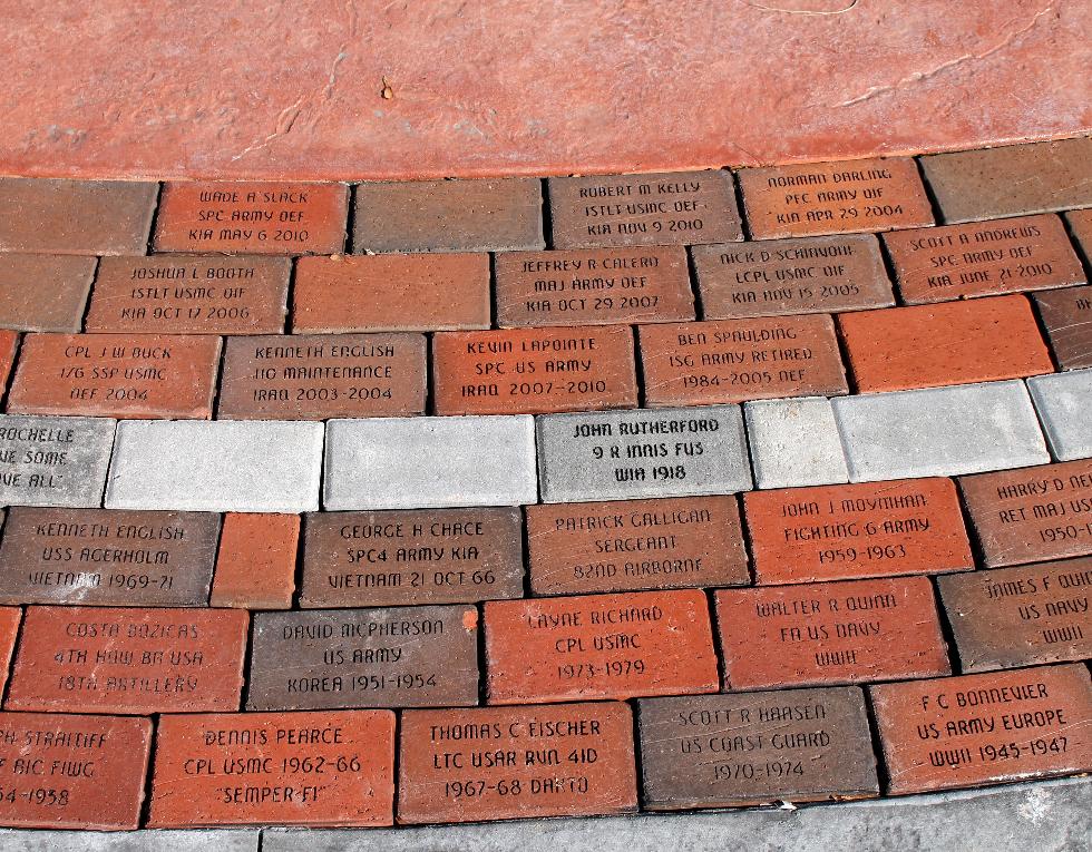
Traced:
<svg viewBox="0 0 1092 852">
<path fill-rule="evenodd" d="M 964 672 L 1092 657 L 1092 558 L 938 577 Z"/>
</svg>

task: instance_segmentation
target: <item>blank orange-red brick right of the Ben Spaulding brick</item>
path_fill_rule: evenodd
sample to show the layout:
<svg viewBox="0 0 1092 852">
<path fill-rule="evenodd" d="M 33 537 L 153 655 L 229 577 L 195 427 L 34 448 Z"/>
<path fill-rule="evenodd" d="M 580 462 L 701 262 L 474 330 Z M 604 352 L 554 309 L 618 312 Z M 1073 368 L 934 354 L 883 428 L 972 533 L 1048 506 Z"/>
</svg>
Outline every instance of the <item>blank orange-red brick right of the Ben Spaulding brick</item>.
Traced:
<svg viewBox="0 0 1092 852">
<path fill-rule="evenodd" d="M 838 324 L 861 393 L 1054 372 L 1024 296 L 862 311 Z"/>
</svg>

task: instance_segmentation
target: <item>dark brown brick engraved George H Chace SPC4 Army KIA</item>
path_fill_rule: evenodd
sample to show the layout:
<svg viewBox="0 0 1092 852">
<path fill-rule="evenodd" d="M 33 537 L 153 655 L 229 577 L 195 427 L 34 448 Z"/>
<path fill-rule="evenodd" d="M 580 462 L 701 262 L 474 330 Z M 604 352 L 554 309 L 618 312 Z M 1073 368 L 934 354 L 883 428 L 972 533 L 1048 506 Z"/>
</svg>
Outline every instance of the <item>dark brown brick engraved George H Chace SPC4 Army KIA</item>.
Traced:
<svg viewBox="0 0 1092 852">
<path fill-rule="evenodd" d="M 519 509 L 306 517 L 301 607 L 464 604 L 524 590 Z"/>
</svg>

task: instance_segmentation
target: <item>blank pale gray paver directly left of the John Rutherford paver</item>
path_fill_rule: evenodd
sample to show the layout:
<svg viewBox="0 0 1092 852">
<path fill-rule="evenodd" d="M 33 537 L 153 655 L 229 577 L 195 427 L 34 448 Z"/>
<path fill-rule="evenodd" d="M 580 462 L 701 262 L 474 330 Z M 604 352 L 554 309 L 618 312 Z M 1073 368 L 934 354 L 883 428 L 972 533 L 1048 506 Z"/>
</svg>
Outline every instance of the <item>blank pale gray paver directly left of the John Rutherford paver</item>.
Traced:
<svg viewBox="0 0 1092 852">
<path fill-rule="evenodd" d="M 326 509 L 519 506 L 537 499 L 529 414 L 326 424 Z"/>
</svg>

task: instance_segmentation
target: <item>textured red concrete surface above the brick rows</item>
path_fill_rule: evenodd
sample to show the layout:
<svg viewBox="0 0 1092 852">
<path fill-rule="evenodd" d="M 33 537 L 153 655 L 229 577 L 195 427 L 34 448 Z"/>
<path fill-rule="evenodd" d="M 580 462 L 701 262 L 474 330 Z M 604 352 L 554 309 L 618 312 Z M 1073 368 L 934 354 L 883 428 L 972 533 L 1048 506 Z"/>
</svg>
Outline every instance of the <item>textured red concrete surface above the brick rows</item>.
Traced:
<svg viewBox="0 0 1092 852">
<path fill-rule="evenodd" d="M 0 174 L 754 165 L 1092 129 L 1086 0 L 0 0 Z"/>
</svg>

